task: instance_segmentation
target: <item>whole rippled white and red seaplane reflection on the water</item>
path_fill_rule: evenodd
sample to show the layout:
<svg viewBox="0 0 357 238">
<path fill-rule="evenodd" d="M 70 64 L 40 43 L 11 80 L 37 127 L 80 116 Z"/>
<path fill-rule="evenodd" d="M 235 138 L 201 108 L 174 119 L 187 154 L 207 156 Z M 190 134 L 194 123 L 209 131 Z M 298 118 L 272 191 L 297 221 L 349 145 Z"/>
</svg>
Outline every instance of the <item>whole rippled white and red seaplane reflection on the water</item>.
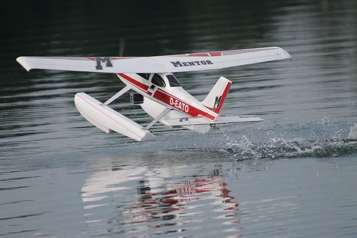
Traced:
<svg viewBox="0 0 357 238">
<path fill-rule="evenodd" d="M 86 223 L 95 229 L 109 225 L 113 233 L 156 229 L 150 230 L 151 235 L 202 227 L 205 219 L 214 220 L 212 224 L 217 222 L 215 219 L 224 219 L 222 224 L 239 229 L 238 203 L 232 201 L 222 177 L 191 176 L 192 179 L 179 180 L 173 179 L 172 174 L 172 170 L 149 171 L 146 167 L 95 173 L 82 187 Z M 106 211 L 108 214 L 101 217 Z M 108 219 L 110 216 L 114 217 Z M 199 224 L 193 225 L 195 222 Z M 159 229 L 163 227 L 170 228 Z M 99 230 L 103 231 L 103 227 Z"/>
</svg>

